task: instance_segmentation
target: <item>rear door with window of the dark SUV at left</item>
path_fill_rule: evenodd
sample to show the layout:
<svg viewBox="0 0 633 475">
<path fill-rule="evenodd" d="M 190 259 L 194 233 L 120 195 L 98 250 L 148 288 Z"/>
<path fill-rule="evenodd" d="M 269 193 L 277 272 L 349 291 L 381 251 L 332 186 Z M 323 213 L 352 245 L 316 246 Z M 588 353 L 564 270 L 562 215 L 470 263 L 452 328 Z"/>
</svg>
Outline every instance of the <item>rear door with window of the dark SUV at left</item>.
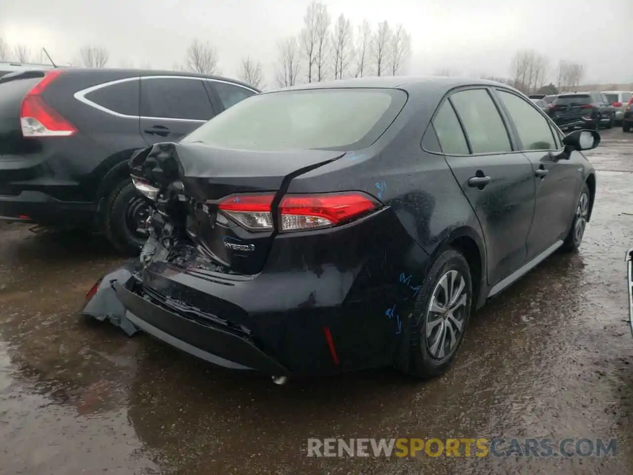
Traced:
<svg viewBox="0 0 633 475">
<path fill-rule="evenodd" d="M 148 144 L 179 141 L 215 115 L 203 79 L 141 78 L 141 135 Z"/>
</svg>

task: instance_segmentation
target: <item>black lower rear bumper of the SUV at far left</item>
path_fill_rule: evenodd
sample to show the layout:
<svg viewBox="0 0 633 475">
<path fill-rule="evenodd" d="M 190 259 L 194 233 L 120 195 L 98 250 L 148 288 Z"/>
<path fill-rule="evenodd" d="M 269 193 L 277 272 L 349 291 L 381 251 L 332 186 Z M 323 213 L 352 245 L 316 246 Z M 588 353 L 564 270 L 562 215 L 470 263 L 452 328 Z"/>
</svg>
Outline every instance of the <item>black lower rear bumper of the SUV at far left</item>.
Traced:
<svg viewBox="0 0 633 475">
<path fill-rule="evenodd" d="M 60 201 L 41 191 L 22 191 L 17 196 L 0 194 L 0 219 L 42 225 L 91 224 L 94 203 Z"/>
</svg>

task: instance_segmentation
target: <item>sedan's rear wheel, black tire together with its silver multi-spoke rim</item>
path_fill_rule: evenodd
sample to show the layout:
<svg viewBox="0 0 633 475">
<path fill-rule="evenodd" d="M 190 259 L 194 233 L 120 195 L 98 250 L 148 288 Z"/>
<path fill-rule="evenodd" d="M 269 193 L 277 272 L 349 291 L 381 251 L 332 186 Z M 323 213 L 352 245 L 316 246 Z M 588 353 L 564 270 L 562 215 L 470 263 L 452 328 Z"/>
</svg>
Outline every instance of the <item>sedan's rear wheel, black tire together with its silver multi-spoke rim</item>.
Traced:
<svg viewBox="0 0 633 475">
<path fill-rule="evenodd" d="M 443 251 L 430 267 L 413 314 L 404 321 L 398 368 L 422 379 L 445 372 L 463 341 L 472 300 L 466 258 L 453 249 Z"/>
</svg>

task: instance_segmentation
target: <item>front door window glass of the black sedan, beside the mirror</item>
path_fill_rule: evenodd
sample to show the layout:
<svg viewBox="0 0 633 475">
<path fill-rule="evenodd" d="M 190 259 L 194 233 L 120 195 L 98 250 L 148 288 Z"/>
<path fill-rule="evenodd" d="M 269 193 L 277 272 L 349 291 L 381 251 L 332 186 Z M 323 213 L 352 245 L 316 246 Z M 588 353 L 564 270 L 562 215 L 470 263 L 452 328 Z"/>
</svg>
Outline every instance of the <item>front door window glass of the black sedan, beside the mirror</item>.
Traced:
<svg viewBox="0 0 633 475">
<path fill-rule="evenodd" d="M 497 91 L 517 127 L 523 150 L 554 150 L 554 136 L 548 120 L 534 107 L 510 92 Z"/>
</svg>

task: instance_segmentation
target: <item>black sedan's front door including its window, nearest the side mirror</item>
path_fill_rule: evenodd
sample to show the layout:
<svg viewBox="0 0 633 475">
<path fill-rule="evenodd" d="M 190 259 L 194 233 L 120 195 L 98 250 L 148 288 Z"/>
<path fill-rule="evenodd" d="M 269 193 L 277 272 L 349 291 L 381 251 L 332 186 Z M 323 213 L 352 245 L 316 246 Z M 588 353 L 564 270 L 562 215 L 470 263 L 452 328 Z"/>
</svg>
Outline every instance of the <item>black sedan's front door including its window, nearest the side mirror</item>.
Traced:
<svg viewBox="0 0 633 475">
<path fill-rule="evenodd" d="M 503 89 L 495 92 L 515 130 L 518 149 L 530 160 L 534 171 L 536 205 L 527 238 L 530 259 L 567 234 L 580 191 L 581 158 L 574 152 L 570 160 L 557 160 L 563 146 L 547 118 L 517 94 Z"/>
</svg>

